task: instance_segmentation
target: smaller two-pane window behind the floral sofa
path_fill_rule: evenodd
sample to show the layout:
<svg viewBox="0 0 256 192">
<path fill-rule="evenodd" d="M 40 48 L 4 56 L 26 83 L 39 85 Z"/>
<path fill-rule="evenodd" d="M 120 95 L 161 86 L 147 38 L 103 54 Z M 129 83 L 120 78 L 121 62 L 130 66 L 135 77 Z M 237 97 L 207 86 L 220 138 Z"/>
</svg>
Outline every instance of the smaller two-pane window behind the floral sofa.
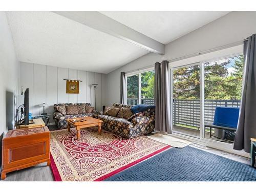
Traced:
<svg viewBox="0 0 256 192">
<path fill-rule="evenodd" d="M 155 71 L 147 71 L 127 76 L 127 104 L 153 105 Z"/>
</svg>

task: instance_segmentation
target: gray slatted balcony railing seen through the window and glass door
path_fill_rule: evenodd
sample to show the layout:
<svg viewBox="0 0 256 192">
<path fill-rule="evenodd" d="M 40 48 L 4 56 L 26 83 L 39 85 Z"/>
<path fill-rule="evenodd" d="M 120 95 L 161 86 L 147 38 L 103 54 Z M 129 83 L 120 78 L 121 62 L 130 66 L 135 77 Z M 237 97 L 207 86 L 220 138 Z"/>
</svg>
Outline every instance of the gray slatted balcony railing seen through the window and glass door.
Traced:
<svg viewBox="0 0 256 192">
<path fill-rule="evenodd" d="M 239 108 L 240 100 L 204 100 L 204 122 L 214 121 L 216 106 L 230 106 Z M 138 98 L 128 98 L 127 104 L 139 104 Z M 141 104 L 154 105 L 154 99 L 141 99 Z M 193 126 L 200 129 L 200 100 L 199 99 L 174 99 L 173 124 L 177 126 Z M 194 128 L 194 129 L 195 129 Z"/>
</svg>

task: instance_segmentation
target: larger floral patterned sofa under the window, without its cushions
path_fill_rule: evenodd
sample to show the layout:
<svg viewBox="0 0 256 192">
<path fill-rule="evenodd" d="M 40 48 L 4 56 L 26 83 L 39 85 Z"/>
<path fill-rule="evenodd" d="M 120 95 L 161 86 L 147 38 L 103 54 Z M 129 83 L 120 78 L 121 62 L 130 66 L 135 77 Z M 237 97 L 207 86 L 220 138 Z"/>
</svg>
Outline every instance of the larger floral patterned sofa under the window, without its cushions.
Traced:
<svg viewBox="0 0 256 192">
<path fill-rule="evenodd" d="M 132 108 L 132 105 L 114 103 L 116 108 Z M 124 118 L 109 115 L 94 114 L 93 117 L 103 120 L 102 128 L 124 138 L 134 138 L 151 133 L 155 129 L 155 109 L 148 109 L 143 112 L 144 116 L 135 117 L 131 121 Z"/>
</svg>

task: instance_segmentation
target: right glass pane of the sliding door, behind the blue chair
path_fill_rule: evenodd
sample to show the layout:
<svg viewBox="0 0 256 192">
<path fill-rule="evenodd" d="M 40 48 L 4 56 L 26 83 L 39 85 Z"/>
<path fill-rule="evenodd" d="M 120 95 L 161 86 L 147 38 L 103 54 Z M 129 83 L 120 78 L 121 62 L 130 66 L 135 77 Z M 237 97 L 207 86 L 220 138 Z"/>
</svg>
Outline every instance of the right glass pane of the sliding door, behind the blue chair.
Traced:
<svg viewBox="0 0 256 192">
<path fill-rule="evenodd" d="M 204 123 L 214 121 L 217 106 L 239 108 L 242 95 L 243 55 L 203 63 Z M 234 131 L 206 127 L 206 138 L 233 142 Z"/>
</svg>

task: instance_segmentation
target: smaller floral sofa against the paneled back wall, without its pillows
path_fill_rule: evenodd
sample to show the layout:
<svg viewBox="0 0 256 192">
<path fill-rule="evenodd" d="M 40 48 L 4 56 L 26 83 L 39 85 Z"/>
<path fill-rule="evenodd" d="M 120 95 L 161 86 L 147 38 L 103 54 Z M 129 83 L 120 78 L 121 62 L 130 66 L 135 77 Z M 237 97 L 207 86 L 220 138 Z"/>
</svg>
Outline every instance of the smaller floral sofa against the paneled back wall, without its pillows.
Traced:
<svg viewBox="0 0 256 192">
<path fill-rule="evenodd" d="M 82 113 L 82 114 L 73 114 L 73 115 L 62 115 L 58 110 L 57 106 L 68 106 L 68 105 L 86 105 L 86 106 L 91 106 L 90 103 L 59 103 L 59 104 L 54 104 L 54 113 L 53 113 L 53 119 L 58 127 L 58 129 L 65 129 L 67 128 L 68 122 L 66 119 L 69 118 L 76 118 L 76 117 L 84 117 L 84 116 L 90 116 L 92 117 L 96 113 L 98 113 L 96 110 L 93 110 L 92 113 Z"/>
</svg>

